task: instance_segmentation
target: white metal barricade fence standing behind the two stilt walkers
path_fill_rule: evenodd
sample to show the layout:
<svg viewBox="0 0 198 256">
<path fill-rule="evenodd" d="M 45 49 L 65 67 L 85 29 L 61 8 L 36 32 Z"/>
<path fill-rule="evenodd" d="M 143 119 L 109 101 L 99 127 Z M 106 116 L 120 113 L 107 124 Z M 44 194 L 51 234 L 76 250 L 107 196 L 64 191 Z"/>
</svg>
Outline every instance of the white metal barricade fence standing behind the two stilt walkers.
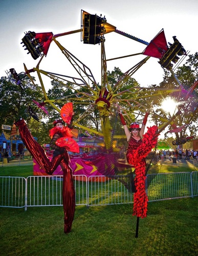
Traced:
<svg viewBox="0 0 198 256">
<path fill-rule="evenodd" d="M 62 205 L 63 176 L 0 177 L 0 207 Z M 133 203 L 128 184 L 118 177 L 74 175 L 76 205 Z M 159 201 L 198 196 L 198 172 L 149 174 L 148 200 Z"/>
</svg>

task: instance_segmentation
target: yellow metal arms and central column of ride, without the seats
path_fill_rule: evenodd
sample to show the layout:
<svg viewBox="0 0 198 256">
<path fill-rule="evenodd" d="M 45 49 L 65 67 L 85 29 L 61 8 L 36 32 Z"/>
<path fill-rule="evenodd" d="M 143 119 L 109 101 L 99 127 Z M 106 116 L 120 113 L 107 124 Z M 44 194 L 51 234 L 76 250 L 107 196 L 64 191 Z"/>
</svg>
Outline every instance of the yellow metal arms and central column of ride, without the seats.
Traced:
<svg viewBox="0 0 198 256">
<path fill-rule="evenodd" d="M 85 12 L 86 13 L 86 12 Z M 83 26 L 83 25 L 81 25 Z M 119 30 L 116 29 L 116 27 L 112 26 L 111 24 L 105 24 L 104 26 L 106 26 L 108 28 L 108 31 L 106 33 L 109 32 L 116 32 L 120 35 L 123 35 L 127 38 L 136 40 L 137 42 L 140 42 L 144 45 L 148 45 L 149 43 L 141 40 L 137 37 L 131 36 L 129 34 L 126 34 L 124 32 L 121 32 Z M 121 77 L 120 79 L 114 84 L 113 87 L 111 87 L 111 85 L 108 83 L 108 79 L 107 79 L 107 61 L 111 61 L 111 60 L 116 60 L 116 59 L 120 59 L 120 58 L 126 58 L 129 56 L 135 56 L 135 55 L 140 55 L 143 54 L 141 53 L 136 53 L 136 54 L 130 54 L 127 56 L 121 56 L 121 57 L 115 57 L 112 59 L 106 59 L 106 54 L 105 54 L 105 46 L 104 46 L 104 34 L 105 32 L 101 35 L 102 36 L 102 40 L 100 42 L 100 46 L 101 46 L 101 86 L 98 86 L 91 70 L 84 65 L 83 62 L 81 62 L 78 58 L 76 58 L 72 53 L 70 53 L 67 49 L 65 49 L 60 42 L 57 40 L 58 37 L 61 36 L 65 36 L 65 35 L 69 35 L 69 34 L 73 34 L 73 33 L 79 33 L 79 32 L 83 32 L 83 28 L 78 29 L 78 30 L 74 30 L 74 31 L 70 31 L 70 32 L 65 32 L 65 33 L 61 33 L 61 34 L 56 34 L 53 36 L 52 41 L 55 42 L 55 44 L 58 46 L 58 48 L 60 49 L 60 51 L 62 52 L 62 54 L 69 60 L 70 64 L 72 65 L 72 67 L 75 69 L 75 71 L 77 72 L 79 78 L 77 77 L 71 77 L 71 76 L 67 76 L 67 75 L 60 75 L 60 74 L 56 74 L 56 73 L 52 73 L 52 72 L 47 72 L 47 71 L 43 71 L 41 69 L 39 69 L 39 65 L 43 59 L 43 57 L 45 55 L 42 55 L 40 60 L 38 61 L 36 68 L 33 68 L 31 70 L 28 70 L 27 67 L 24 64 L 25 67 L 25 71 L 26 74 L 29 76 L 29 78 L 32 80 L 32 82 L 34 83 L 30 73 L 31 72 L 37 72 L 40 84 L 41 84 L 41 88 L 43 91 L 43 94 L 45 96 L 45 100 L 43 102 L 45 103 L 49 103 L 50 105 L 53 106 L 53 108 L 55 110 L 57 110 L 58 112 L 60 112 L 60 109 L 57 108 L 57 106 L 55 105 L 56 102 L 65 102 L 65 101 L 73 101 L 74 104 L 84 104 L 84 105 L 88 105 L 87 110 L 83 113 L 83 115 L 76 121 L 73 122 L 74 126 L 77 126 L 81 129 L 84 129 L 86 131 L 95 133 L 97 135 L 103 136 L 104 137 L 104 142 L 105 142 L 105 146 L 106 149 L 109 150 L 112 146 L 111 144 L 111 124 L 109 121 L 109 113 L 111 112 L 111 106 L 114 106 L 114 108 L 117 107 L 118 102 L 121 105 L 121 110 L 123 110 L 126 115 L 129 112 L 133 112 L 139 109 L 139 106 L 141 105 L 140 102 L 138 102 L 137 100 L 140 98 L 144 98 L 144 97 L 153 97 L 153 96 L 157 96 L 157 95 L 162 95 L 162 94 L 170 94 L 172 92 L 180 92 L 181 91 L 181 87 L 180 87 L 180 82 L 177 79 L 177 77 L 174 75 L 173 71 L 170 70 L 170 72 L 172 73 L 173 77 L 175 78 L 175 80 L 177 81 L 177 83 L 179 84 L 179 88 L 175 89 L 175 90 L 153 90 L 151 88 L 141 88 L 141 87 L 133 87 L 129 90 L 123 91 L 123 92 L 118 92 L 119 89 L 123 86 L 124 83 L 126 83 L 128 81 L 128 79 L 137 71 L 139 70 L 142 65 L 144 63 L 146 63 L 146 61 L 150 58 L 149 56 L 145 57 L 143 60 L 141 60 L 139 63 L 137 63 L 137 65 L 135 65 L 134 67 L 130 68 L 128 71 L 126 71 Z M 46 89 L 45 86 L 43 84 L 43 80 L 41 78 L 41 74 L 49 77 L 50 79 L 54 79 L 55 81 L 58 81 L 59 83 L 62 84 L 62 86 L 70 88 L 71 90 L 75 91 L 75 98 L 63 98 L 63 99 L 53 99 L 50 100 L 48 98 L 48 95 L 46 93 Z M 70 84 L 72 84 L 72 86 L 70 86 Z M 75 88 L 73 87 L 75 86 Z M 93 86 L 96 89 L 93 89 Z M 82 91 L 81 89 L 87 89 L 87 92 L 84 92 L 84 90 Z M 88 93 L 89 92 L 89 93 Z M 147 95 L 145 95 L 145 92 Z M 133 94 L 133 98 L 124 98 L 122 96 L 129 96 Z M 84 127 L 82 125 L 79 124 L 79 121 L 83 118 L 85 118 L 85 116 L 87 114 L 89 114 L 94 107 L 97 107 L 98 111 L 99 111 L 99 115 L 100 115 L 100 121 L 101 121 L 101 132 L 97 132 L 93 129 L 89 129 L 89 127 Z M 144 105 L 141 105 L 141 108 L 146 111 L 147 109 L 145 108 Z M 168 122 L 169 120 L 166 119 L 161 119 L 161 117 L 159 117 L 161 121 L 164 122 Z M 114 137 L 116 138 L 116 136 Z"/>
</svg>

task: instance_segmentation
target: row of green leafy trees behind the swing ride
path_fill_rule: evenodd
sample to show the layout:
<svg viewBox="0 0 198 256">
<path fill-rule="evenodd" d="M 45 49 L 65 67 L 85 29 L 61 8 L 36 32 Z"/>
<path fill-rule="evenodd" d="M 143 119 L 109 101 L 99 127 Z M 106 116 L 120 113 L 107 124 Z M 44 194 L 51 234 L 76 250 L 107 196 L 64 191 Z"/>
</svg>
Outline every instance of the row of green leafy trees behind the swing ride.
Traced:
<svg viewBox="0 0 198 256">
<path fill-rule="evenodd" d="M 174 98 L 175 101 L 179 103 L 178 108 L 182 110 L 182 114 L 177 119 L 175 119 L 175 124 L 177 126 L 181 126 L 183 124 L 189 123 L 187 129 L 184 129 L 180 134 L 177 134 L 178 138 L 191 135 L 196 136 L 198 112 L 194 110 L 197 106 L 197 88 L 192 92 L 188 100 L 184 99 L 186 96 L 185 92 L 188 91 L 194 81 L 197 80 L 197 65 L 198 53 L 195 53 L 194 55 L 189 55 L 186 63 L 182 67 L 179 67 L 175 72 L 177 78 L 182 84 L 183 90 L 181 92 L 163 94 L 163 97 L 145 97 L 149 96 L 149 91 L 145 89 L 143 94 L 144 97 L 138 98 L 136 100 L 140 103 L 140 105 L 144 105 L 147 109 L 149 108 L 151 102 L 153 103 L 153 106 L 155 108 L 155 115 L 153 115 L 153 119 L 156 120 L 156 123 L 158 125 L 160 125 L 163 123 L 163 121 L 159 119 L 158 116 L 161 116 L 165 119 L 170 118 L 169 113 L 161 109 L 162 99 L 168 96 Z M 112 72 L 107 72 L 107 76 L 108 83 L 113 88 L 115 84 L 122 78 L 123 73 L 119 68 L 115 67 Z M 68 98 L 76 97 L 76 93 L 72 89 L 72 84 L 69 84 L 68 87 L 67 84 L 63 84 L 59 80 L 53 80 L 51 84 L 52 88 L 48 91 L 48 98 L 54 100 L 54 104 L 58 107 L 58 109 L 61 109 L 63 104 L 69 101 Z M 98 87 L 100 88 L 99 85 Z M 136 99 L 136 96 L 133 92 L 136 92 L 136 88 L 138 87 L 140 87 L 140 85 L 134 78 L 126 79 L 121 84 L 121 87 L 119 87 L 116 91 L 116 93 L 118 94 L 117 99 L 121 97 L 121 94 L 122 99 L 126 99 L 126 101 L 130 100 L 131 98 Z M 167 89 L 173 90 L 179 88 L 179 84 L 167 70 L 164 71 L 163 81 L 159 84 L 159 86 L 150 86 L 150 89 L 153 91 Z M 128 93 L 129 90 L 130 93 Z M 85 87 L 81 88 L 81 91 L 89 93 L 88 89 Z M 126 94 L 123 93 L 125 91 L 127 92 Z M 48 143 L 50 140 L 48 133 L 52 127 L 52 122 L 55 119 L 60 118 L 60 113 L 58 113 L 58 111 L 56 111 L 50 104 L 47 104 L 46 108 L 48 109 L 50 116 L 46 116 L 45 113 L 43 113 L 40 109 L 37 109 L 36 113 L 40 119 L 38 123 L 34 119 L 30 118 L 30 116 L 26 115 L 26 109 L 28 105 L 31 105 L 34 107 L 34 109 L 36 109 L 36 105 L 34 106 L 34 103 L 32 102 L 33 99 L 38 102 L 42 102 L 44 100 L 43 93 L 40 86 L 38 86 L 37 84 L 33 85 L 28 77 L 25 77 L 23 79 L 23 83 L 21 84 L 21 86 L 18 86 L 10 78 L 2 77 L 0 79 L 1 124 L 12 125 L 14 120 L 17 120 L 19 117 L 23 117 L 28 122 L 28 126 L 31 129 L 32 135 L 38 138 L 38 142 L 41 144 Z M 85 112 L 85 110 L 89 108 L 91 103 L 93 104 L 93 102 L 90 101 L 85 102 L 85 104 L 77 104 L 74 106 L 75 120 L 78 120 L 78 118 Z M 127 105 L 123 106 L 127 108 Z M 118 113 L 116 113 L 116 110 L 114 110 L 114 112 L 114 115 L 111 117 L 112 127 L 114 127 L 115 123 L 118 121 Z M 143 112 L 145 112 L 144 109 L 140 108 L 139 113 L 143 114 Z M 133 113 L 130 113 L 130 119 L 134 118 L 135 115 Z M 96 106 L 94 108 L 92 107 L 92 110 L 89 112 L 86 118 L 80 120 L 79 124 L 89 128 L 94 127 L 94 129 L 96 129 L 97 131 L 100 130 L 100 118 Z M 121 128 L 118 130 L 121 133 Z"/>
</svg>

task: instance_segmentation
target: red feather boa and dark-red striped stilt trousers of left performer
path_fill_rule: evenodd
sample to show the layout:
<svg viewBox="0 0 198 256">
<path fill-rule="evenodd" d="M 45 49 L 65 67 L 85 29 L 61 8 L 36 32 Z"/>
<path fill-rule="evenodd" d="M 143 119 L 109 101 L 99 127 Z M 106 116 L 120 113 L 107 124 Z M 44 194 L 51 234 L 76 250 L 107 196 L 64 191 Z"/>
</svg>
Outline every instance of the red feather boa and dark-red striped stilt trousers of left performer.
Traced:
<svg viewBox="0 0 198 256">
<path fill-rule="evenodd" d="M 40 165 L 40 167 L 46 171 L 47 174 L 52 175 L 58 165 L 61 166 L 63 172 L 63 184 L 62 184 L 62 201 L 64 210 L 64 232 L 69 233 L 72 228 L 72 222 L 75 212 L 75 189 L 73 183 L 73 173 L 69 166 L 69 155 L 67 150 L 63 147 L 59 147 L 55 144 L 55 141 L 60 137 L 72 137 L 71 131 L 68 127 L 63 126 L 63 130 L 58 130 L 57 127 L 53 127 L 50 130 L 50 137 L 52 138 L 50 146 L 55 149 L 53 159 L 50 160 L 46 156 L 45 150 L 34 140 L 28 127 L 23 119 L 15 122 L 15 125 L 19 127 L 20 137 L 24 144 L 28 148 L 28 151 Z"/>
</svg>

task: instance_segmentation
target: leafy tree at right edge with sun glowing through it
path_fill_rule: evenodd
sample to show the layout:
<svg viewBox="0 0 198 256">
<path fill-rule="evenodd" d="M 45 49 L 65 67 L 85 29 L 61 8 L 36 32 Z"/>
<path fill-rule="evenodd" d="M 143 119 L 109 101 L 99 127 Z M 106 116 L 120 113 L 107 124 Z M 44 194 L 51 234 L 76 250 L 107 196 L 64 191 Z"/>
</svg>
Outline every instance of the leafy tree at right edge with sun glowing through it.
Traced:
<svg viewBox="0 0 198 256">
<path fill-rule="evenodd" d="M 163 81 L 157 87 L 159 89 L 182 89 L 181 92 L 174 92 L 172 94 L 167 94 L 166 96 L 171 97 L 178 102 L 178 109 L 181 110 L 181 114 L 174 120 L 176 126 L 182 126 L 183 124 L 187 125 L 181 132 L 175 133 L 177 139 L 185 138 L 186 136 L 196 136 L 197 131 L 197 96 L 198 90 L 195 88 L 187 97 L 189 89 L 193 83 L 197 80 L 198 74 L 198 54 L 189 55 L 186 63 L 179 67 L 177 72 L 177 78 L 179 79 L 181 86 L 177 83 L 176 79 L 170 74 L 169 71 L 165 70 Z M 170 114 L 161 109 L 161 99 L 157 98 L 155 100 L 156 113 L 165 118 L 169 119 Z M 155 118 L 155 115 L 154 115 Z M 159 120 L 159 123 L 162 124 L 162 121 Z M 170 127 L 172 130 L 173 127 Z"/>
</svg>

